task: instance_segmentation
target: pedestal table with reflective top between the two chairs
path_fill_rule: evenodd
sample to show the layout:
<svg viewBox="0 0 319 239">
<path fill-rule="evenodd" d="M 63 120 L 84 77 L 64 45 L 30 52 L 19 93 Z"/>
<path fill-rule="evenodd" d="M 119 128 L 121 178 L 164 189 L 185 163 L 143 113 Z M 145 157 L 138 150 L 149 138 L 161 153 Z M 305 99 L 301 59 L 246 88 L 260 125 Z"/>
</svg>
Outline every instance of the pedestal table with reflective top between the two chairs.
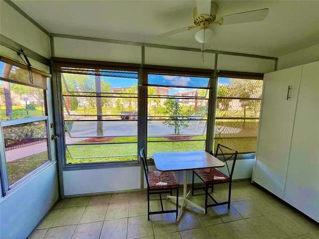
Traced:
<svg viewBox="0 0 319 239">
<path fill-rule="evenodd" d="M 190 191 L 187 192 L 187 170 L 200 169 L 200 168 L 212 168 L 212 167 L 223 167 L 225 163 L 220 161 L 218 158 L 209 154 L 206 151 L 182 151 L 182 152 L 163 152 L 154 153 L 153 159 L 155 166 L 160 171 L 184 171 L 184 183 L 183 183 L 183 197 L 178 197 L 178 201 L 182 202 L 180 211 L 177 217 L 179 221 L 180 216 L 183 212 L 183 208 L 186 204 L 197 208 L 203 212 L 205 209 L 199 205 L 193 203 L 187 199 Z M 175 196 L 167 196 L 176 202 Z"/>
</svg>

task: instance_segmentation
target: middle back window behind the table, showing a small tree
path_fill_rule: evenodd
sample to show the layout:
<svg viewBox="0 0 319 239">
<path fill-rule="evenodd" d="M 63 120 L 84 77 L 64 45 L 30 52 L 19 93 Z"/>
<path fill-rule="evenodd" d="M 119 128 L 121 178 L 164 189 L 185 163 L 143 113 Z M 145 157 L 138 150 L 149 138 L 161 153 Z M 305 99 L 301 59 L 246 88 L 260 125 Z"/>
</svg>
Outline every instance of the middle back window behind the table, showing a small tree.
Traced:
<svg viewBox="0 0 319 239">
<path fill-rule="evenodd" d="M 205 150 L 208 76 L 148 74 L 147 153 Z"/>
</svg>

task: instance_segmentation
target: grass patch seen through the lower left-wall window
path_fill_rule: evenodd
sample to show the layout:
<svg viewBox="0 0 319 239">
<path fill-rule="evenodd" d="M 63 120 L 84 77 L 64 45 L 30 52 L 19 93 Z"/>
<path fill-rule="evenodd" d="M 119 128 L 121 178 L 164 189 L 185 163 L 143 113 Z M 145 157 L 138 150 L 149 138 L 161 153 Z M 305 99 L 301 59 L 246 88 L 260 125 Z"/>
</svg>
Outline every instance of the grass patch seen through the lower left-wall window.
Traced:
<svg viewBox="0 0 319 239">
<path fill-rule="evenodd" d="M 34 171 L 40 167 L 43 163 L 48 161 L 47 151 L 26 156 L 23 158 L 16 159 L 11 162 L 7 162 L 7 173 L 9 185 L 12 185 L 25 175 Z"/>
</svg>

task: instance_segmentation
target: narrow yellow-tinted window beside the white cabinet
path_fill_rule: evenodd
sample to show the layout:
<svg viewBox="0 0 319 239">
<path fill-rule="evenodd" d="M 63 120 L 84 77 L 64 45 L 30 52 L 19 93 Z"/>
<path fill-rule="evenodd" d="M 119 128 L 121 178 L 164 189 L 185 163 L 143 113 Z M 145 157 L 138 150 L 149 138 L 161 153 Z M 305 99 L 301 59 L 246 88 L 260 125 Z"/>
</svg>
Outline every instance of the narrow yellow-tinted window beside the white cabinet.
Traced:
<svg viewBox="0 0 319 239">
<path fill-rule="evenodd" d="M 215 147 L 255 152 L 262 89 L 260 79 L 218 78 Z"/>
</svg>

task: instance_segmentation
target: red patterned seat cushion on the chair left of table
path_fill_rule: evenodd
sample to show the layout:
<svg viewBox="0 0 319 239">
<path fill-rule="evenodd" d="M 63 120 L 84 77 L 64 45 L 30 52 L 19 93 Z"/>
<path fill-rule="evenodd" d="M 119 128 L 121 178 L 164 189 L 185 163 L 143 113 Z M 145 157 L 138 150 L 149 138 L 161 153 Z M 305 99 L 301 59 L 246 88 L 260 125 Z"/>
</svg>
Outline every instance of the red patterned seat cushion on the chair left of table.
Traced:
<svg viewBox="0 0 319 239">
<path fill-rule="evenodd" d="M 177 188 L 178 182 L 173 172 L 150 171 L 150 189 Z"/>
</svg>

